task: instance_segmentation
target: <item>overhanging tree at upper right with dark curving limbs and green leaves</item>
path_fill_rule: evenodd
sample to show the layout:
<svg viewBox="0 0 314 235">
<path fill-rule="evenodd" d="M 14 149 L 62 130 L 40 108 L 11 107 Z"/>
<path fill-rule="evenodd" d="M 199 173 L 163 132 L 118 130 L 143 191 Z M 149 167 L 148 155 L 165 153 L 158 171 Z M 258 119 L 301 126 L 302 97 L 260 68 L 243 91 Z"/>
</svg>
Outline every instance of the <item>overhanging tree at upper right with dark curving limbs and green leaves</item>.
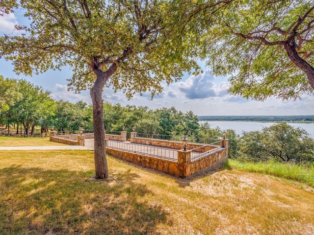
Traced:
<svg viewBox="0 0 314 235">
<path fill-rule="evenodd" d="M 186 27 L 198 30 L 212 72 L 231 74 L 229 92 L 255 100 L 313 94 L 313 0 L 224 2 L 195 4 Z"/>
</svg>

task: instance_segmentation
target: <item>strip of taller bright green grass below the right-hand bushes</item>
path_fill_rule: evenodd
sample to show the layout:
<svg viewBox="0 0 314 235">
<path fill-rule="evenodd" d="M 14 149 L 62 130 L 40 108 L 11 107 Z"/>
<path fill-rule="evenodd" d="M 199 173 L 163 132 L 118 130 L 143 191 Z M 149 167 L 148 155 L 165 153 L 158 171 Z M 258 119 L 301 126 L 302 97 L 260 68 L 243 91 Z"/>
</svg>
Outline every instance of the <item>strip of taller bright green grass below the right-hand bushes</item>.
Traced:
<svg viewBox="0 0 314 235">
<path fill-rule="evenodd" d="M 273 175 L 286 179 L 296 180 L 314 187 L 314 164 L 278 163 L 250 163 L 229 160 L 229 166 L 238 170 Z"/>
</svg>

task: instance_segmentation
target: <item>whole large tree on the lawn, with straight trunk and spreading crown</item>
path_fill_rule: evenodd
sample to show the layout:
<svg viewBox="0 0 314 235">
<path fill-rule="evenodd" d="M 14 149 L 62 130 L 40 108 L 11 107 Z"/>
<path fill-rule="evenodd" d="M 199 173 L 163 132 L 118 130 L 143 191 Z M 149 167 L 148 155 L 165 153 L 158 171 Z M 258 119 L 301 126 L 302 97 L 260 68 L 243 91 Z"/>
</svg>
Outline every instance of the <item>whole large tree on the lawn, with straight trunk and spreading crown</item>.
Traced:
<svg viewBox="0 0 314 235">
<path fill-rule="evenodd" d="M 180 24 L 174 16 L 181 5 L 169 0 L 21 0 L 18 4 L 30 26 L 16 27 L 24 34 L 0 38 L 0 57 L 12 60 L 15 71 L 26 75 L 71 66 L 69 88 L 90 89 L 96 178 L 107 178 L 104 87 L 121 89 L 127 97 L 147 91 L 153 97 L 162 91 L 163 81 L 169 84 L 184 71 L 198 69 L 191 59 L 194 51 L 182 34 L 174 33 L 172 23 Z"/>
</svg>

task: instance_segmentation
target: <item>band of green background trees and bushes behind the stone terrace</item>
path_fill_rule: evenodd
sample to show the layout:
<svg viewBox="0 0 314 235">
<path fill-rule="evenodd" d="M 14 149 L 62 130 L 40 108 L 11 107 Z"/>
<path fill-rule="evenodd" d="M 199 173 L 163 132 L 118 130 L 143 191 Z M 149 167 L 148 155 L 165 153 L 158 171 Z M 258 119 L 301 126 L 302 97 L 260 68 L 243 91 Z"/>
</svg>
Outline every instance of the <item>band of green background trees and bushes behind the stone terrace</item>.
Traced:
<svg viewBox="0 0 314 235">
<path fill-rule="evenodd" d="M 171 108 L 152 110 L 147 106 L 104 103 L 104 126 L 107 131 L 127 132 L 137 127 L 138 133 L 166 135 L 190 141 L 217 140 L 222 138 L 220 127 L 211 127 L 208 122 L 199 122 L 193 112 L 183 113 Z M 8 126 L 17 125 L 17 132 L 24 136 L 33 134 L 35 126 L 41 133 L 48 132 L 51 126 L 57 131 L 91 130 L 93 128 L 93 107 L 83 101 L 71 103 L 54 100 L 49 91 L 35 86 L 26 80 L 4 79 L 0 76 L 0 122 Z M 262 131 L 243 132 L 237 135 L 234 130 L 225 130 L 229 140 L 229 157 L 241 161 L 313 162 L 314 140 L 309 134 L 286 122 L 276 122 Z M 177 138 L 177 139 L 178 139 Z"/>
</svg>

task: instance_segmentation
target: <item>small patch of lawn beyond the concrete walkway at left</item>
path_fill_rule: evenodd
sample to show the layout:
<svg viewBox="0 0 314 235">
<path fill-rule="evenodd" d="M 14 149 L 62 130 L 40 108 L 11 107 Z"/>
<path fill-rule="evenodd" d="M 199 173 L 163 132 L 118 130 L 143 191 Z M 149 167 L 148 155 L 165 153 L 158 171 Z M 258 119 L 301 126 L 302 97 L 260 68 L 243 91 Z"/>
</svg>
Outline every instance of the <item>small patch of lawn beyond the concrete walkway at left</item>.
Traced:
<svg viewBox="0 0 314 235">
<path fill-rule="evenodd" d="M 59 146 L 66 145 L 49 141 L 49 137 L 5 137 L 0 136 L 0 146 L 18 147 L 18 146 Z"/>
</svg>

